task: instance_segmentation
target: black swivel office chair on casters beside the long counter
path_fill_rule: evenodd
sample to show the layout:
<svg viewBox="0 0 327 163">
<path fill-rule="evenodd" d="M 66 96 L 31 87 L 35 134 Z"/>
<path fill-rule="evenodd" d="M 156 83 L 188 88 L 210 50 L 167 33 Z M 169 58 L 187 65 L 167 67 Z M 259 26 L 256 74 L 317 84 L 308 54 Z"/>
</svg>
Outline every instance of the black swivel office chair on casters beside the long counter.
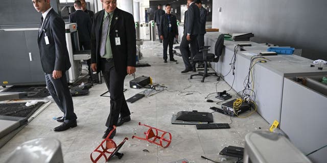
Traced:
<svg viewBox="0 0 327 163">
<path fill-rule="evenodd" d="M 203 62 L 204 63 L 204 72 L 199 72 L 197 74 L 192 74 L 190 76 L 190 79 L 193 78 L 193 76 L 202 76 L 201 82 L 204 82 L 204 78 L 207 76 L 218 76 L 216 72 L 208 72 L 208 62 L 218 62 L 219 57 L 221 56 L 223 52 L 224 47 L 224 35 L 220 34 L 215 45 L 215 54 L 208 53 L 210 46 L 202 46 L 199 50 L 199 52 L 193 57 L 194 64 L 197 62 Z M 216 57 L 216 58 L 215 58 Z M 220 78 L 218 77 L 217 80 Z"/>
</svg>

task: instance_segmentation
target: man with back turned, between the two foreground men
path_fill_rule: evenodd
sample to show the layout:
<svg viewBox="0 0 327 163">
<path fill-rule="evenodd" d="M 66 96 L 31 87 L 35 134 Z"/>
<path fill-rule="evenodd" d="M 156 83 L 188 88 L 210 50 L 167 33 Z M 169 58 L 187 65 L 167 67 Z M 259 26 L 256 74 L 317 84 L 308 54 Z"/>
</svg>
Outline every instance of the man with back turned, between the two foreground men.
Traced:
<svg viewBox="0 0 327 163">
<path fill-rule="evenodd" d="M 78 38 L 80 43 L 80 49 L 90 50 L 91 45 L 91 19 L 90 16 L 83 12 L 82 4 L 80 1 L 74 2 L 75 12 L 69 14 L 69 22 L 77 23 Z"/>
</svg>

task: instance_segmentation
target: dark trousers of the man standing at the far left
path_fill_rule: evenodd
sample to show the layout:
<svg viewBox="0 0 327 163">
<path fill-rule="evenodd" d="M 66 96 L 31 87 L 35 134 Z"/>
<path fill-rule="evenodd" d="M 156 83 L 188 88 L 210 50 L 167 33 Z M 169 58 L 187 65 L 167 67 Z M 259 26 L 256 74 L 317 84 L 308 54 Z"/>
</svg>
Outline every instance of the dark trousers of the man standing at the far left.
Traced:
<svg viewBox="0 0 327 163">
<path fill-rule="evenodd" d="M 77 116 L 74 113 L 73 99 L 69 91 L 65 72 L 59 79 L 54 79 L 52 74 L 45 74 L 46 87 L 49 93 L 64 114 L 65 122 L 76 120 Z"/>
</svg>

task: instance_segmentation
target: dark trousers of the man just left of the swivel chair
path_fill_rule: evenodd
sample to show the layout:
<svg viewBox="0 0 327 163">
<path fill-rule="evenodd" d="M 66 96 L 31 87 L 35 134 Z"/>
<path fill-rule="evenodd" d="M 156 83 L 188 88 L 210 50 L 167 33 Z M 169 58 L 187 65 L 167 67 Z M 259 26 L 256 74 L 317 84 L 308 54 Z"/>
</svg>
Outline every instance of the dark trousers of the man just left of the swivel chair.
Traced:
<svg viewBox="0 0 327 163">
<path fill-rule="evenodd" d="M 195 65 L 193 63 L 193 56 L 195 56 L 198 51 L 197 35 L 191 35 L 191 41 L 186 40 L 186 36 L 187 34 L 183 35 L 182 41 L 180 42 L 179 50 L 182 53 L 185 69 L 192 70 L 193 68 L 195 68 Z M 189 44 L 191 46 L 189 46 Z M 190 62 L 189 57 L 191 57 L 192 63 Z"/>
</svg>

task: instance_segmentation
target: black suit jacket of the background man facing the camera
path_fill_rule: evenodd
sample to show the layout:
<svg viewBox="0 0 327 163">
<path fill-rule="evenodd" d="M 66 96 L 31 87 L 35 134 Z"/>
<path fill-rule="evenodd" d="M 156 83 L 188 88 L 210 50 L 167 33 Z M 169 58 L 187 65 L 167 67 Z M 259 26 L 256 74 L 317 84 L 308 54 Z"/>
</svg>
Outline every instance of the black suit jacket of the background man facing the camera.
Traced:
<svg viewBox="0 0 327 163">
<path fill-rule="evenodd" d="M 176 35 L 178 35 L 176 16 L 173 15 L 173 14 L 170 14 L 170 21 L 171 21 L 171 24 L 172 24 L 171 33 L 175 37 Z M 167 38 L 168 33 L 169 33 L 168 14 L 164 14 L 164 15 L 161 16 L 159 29 L 160 29 L 159 30 L 159 36 L 163 35 L 164 38 Z"/>
</svg>

